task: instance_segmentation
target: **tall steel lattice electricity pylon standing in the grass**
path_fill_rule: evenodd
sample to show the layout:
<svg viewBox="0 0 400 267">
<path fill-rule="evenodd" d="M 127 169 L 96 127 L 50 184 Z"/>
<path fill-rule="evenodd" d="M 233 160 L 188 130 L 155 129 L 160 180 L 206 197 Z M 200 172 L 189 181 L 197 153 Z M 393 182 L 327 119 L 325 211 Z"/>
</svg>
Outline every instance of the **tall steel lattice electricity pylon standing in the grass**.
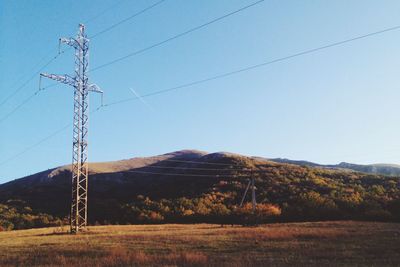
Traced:
<svg viewBox="0 0 400 267">
<path fill-rule="evenodd" d="M 87 225 L 88 200 L 88 107 L 89 91 L 103 93 L 95 84 L 88 83 L 89 39 L 85 26 L 79 24 L 76 38 L 60 38 L 59 44 L 65 43 L 75 49 L 75 75 L 55 75 L 41 73 L 61 83 L 74 87 L 74 121 L 72 152 L 72 201 L 70 225 L 71 233 L 77 233 Z"/>
</svg>

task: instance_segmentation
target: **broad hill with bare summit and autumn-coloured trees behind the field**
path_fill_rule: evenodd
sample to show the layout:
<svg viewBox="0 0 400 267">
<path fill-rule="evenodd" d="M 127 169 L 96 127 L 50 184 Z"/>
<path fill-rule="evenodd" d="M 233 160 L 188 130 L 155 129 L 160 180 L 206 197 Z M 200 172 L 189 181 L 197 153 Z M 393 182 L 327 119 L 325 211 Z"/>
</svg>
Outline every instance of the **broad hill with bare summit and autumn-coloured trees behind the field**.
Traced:
<svg viewBox="0 0 400 267">
<path fill-rule="evenodd" d="M 65 221 L 69 170 L 63 166 L 0 185 L 0 226 Z M 243 223 L 251 208 L 238 204 L 251 176 L 259 203 L 253 219 L 259 222 L 399 221 L 398 177 L 194 150 L 90 164 L 89 221 Z"/>
</svg>

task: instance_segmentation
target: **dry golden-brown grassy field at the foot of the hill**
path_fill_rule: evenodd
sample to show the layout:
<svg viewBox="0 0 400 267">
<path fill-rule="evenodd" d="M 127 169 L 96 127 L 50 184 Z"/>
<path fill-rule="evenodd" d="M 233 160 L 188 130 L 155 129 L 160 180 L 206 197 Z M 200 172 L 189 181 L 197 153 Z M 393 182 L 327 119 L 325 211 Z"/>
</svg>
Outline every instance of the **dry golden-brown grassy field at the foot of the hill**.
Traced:
<svg viewBox="0 0 400 267">
<path fill-rule="evenodd" d="M 400 266 L 400 224 L 95 226 L 0 233 L 0 266 Z"/>
</svg>

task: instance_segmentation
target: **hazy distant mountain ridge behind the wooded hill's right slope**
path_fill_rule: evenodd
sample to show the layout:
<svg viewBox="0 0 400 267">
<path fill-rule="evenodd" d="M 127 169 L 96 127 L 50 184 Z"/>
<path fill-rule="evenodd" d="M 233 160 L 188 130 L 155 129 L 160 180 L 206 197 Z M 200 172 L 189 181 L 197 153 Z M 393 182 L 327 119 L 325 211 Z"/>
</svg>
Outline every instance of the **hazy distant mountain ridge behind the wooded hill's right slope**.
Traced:
<svg viewBox="0 0 400 267">
<path fill-rule="evenodd" d="M 371 173 L 371 174 L 400 176 L 400 165 L 396 165 L 396 164 L 360 165 L 360 164 L 341 162 L 339 164 L 334 164 L 334 165 L 322 165 L 322 164 L 304 161 L 304 160 L 290 160 L 290 159 L 282 159 L 282 158 L 269 159 L 269 160 L 273 161 L 273 162 L 295 164 L 295 165 L 299 165 L 299 166 L 342 169 L 342 170 L 351 170 L 351 171 Z"/>
</svg>

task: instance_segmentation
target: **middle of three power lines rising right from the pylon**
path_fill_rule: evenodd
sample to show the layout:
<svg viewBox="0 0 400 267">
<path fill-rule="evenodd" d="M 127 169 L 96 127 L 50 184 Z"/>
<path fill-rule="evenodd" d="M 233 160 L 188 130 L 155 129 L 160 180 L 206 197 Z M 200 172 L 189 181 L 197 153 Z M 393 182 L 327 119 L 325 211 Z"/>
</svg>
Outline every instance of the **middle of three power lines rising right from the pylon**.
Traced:
<svg viewBox="0 0 400 267">
<path fill-rule="evenodd" d="M 182 32 L 182 33 L 179 33 L 179 34 L 177 34 L 177 35 L 174 35 L 174 36 L 172 36 L 172 37 L 170 37 L 170 38 L 168 38 L 168 39 L 165 39 L 164 41 L 155 43 L 155 44 L 150 45 L 150 46 L 148 46 L 148 47 L 145 47 L 145 48 L 142 48 L 142 49 L 137 50 L 137 51 L 135 51 L 135 52 L 129 53 L 129 54 L 125 55 L 125 56 L 122 56 L 122 57 L 119 57 L 119 58 L 117 58 L 117 59 L 114 59 L 114 60 L 112 60 L 112 61 L 110 61 L 110 62 L 108 62 L 108 63 L 105 63 L 105 64 L 103 64 L 103 65 L 97 66 L 97 67 L 93 68 L 91 71 L 96 71 L 96 70 L 105 68 L 105 67 L 107 67 L 107 66 L 109 66 L 109 65 L 115 64 L 115 63 L 117 63 L 117 62 L 119 62 L 119 61 L 122 61 L 122 60 L 124 60 L 124 59 L 127 59 L 127 58 L 129 58 L 129 57 L 133 57 L 133 56 L 136 56 L 136 55 L 141 54 L 141 53 L 143 53 L 143 52 L 146 52 L 146 51 L 148 51 L 148 50 L 150 50 L 150 49 L 153 49 L 153 48 L 155 48 L 155 47 L 158 47 L 158 46 L 160 46 L 160 45 L 163 45 L 163 44 L 165 44 L 165 43 L 168 43 L 168 42 L 170 42 L 170 41 L 172 41 L 172 40 L 178 39 L 178 38 L 180 38 L 180 37 L 182 37 L 182 36 L 185 36 L 185 35 L 187 35 L 187 34 L 189 34 L 189 33 L 192 33 L 192 32 L 194 32 L 194 31 L 200 30 L 200 29 L 202 29 L 202 28 L 204 28 L 204 27 L 206 27 L 206 26 L 208 26 L 208 25 L 210 25 L 210 24 L 213 24 L 213 23 L 218 22 L 218 21 L 220 21 L 220 20 L 223 20 L 223 19 L 225 19 L 225 18 L 227 18 L 227 17 L 230 17 L 230 16 L 232 16 L 232 15 L 235 15 L 235 14 L 241 12 L 241 11 L 244 11 L 244 10 L 246 10 L 246 9 L 248 9 L 248 8 L 250 8 L 250 7 L 253 7 L 253 6 L 257 5 L 257 4 L 260 4 L 260 3 L 264 2 L 264 1 L 265 1 L 265 0 L 259 0 L 259 1 L 257 1 L 257 2 L 252 3 L 252 4 L 249 4 L 249 5 L 247 5 L 247 6 L 244 6 L 244 7 L 242 7 L 242 8 L 239 8 L 239 9 L 233 11 L 233 12 L 230 12 L 230 13 L 228 13 L 228 14 L 225 14 L 225 15 L 221 16 L 221 17 L 215 18 L 215 19 L 213 19 L 213 20 L 211 20 L 211 21 L 209 21 L 209 22 L 206 22 L 206 23 L 204 23 L 204 24 L 201 24 L 201 25 L 199 25 L 199 26 L 196 26 L 196 27 L 194 27 L 194 28 L 191 28 L 191 29 L 189 29 L 189 30 L 187 30 L 187 31 L 184 31 L 184 32 Z"/>
</svg>

